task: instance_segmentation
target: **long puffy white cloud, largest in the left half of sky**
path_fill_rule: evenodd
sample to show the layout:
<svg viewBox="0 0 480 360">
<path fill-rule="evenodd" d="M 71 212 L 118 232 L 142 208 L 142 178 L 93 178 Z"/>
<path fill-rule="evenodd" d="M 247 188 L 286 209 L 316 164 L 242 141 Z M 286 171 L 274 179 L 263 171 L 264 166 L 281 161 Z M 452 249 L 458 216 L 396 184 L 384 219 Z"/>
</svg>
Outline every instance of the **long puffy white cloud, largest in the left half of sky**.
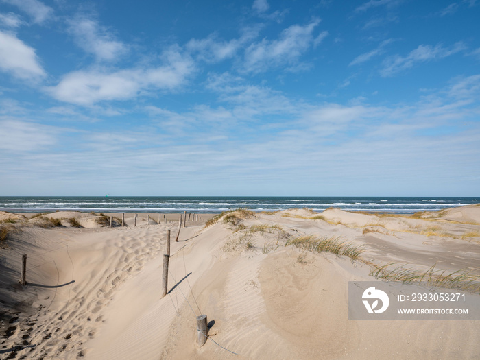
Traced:
<svg viewBox="0 0 480 360">
<path fill-rule="evenodd" d="M 73 71 L 56 86 L 45 88 L 54 98 L 71 104 L 92 105 L 99 101 L 132 99 L 149 90 L 173 90 L 194 70 L 193 62 L 175 50 L 164 55 L 160 67 L 105 71 Z"/>
</svg>

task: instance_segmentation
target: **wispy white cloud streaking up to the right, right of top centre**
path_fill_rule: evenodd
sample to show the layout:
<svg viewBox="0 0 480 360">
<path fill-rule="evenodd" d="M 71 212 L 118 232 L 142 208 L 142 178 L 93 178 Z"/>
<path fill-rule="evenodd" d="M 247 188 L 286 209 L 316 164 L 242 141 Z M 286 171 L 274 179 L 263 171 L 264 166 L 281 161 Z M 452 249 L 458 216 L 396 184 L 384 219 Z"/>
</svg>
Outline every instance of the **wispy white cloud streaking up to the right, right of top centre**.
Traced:
<svg viewBox="0 0 480 360">
<path fill-rule="evenodd" d="M 278 40 L 264 38 L 245 49 L 243 69 L 247 72 L 267 71 L 280 64 L 292 64 L 313 43 L 313 29 L 320 23 L 315 19 L 305 26 L 291 25 L 283 30 Z"/>
</svg>

